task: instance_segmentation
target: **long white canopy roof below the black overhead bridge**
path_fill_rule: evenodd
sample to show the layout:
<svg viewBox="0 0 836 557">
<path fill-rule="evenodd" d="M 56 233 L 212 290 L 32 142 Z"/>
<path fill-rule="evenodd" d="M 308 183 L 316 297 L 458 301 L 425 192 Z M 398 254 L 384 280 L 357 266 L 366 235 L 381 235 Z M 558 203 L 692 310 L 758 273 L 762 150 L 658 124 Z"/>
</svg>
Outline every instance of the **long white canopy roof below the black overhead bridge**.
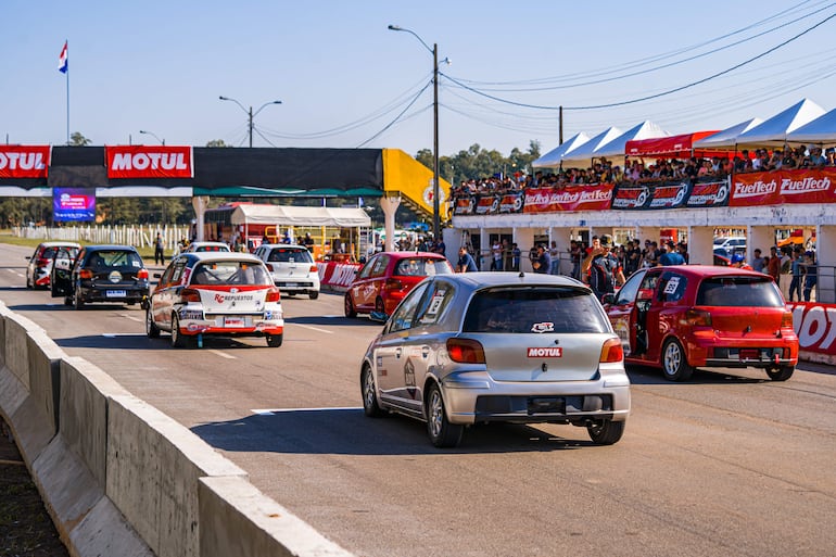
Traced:
<svg viewBox="0 0 836 557">
<path fill-rule="evenodd" d="M 299 207 L 292 205 L 239 205 L 233 225 L 370 227 L 371 217 L 358 207 Z"/>
</svg>

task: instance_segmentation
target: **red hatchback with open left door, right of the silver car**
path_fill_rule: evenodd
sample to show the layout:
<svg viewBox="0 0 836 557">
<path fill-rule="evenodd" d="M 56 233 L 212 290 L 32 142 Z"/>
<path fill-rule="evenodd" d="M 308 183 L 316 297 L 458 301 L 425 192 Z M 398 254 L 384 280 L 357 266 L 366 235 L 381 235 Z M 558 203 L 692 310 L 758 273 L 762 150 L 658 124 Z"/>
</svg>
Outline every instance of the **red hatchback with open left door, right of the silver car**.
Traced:
<svg viewBox="0 0 836 557">
<path fill-rule="evenodd" d="M 642 269 L 604 308 L 624 360 L 661 368 L 670 381 L 698 367 L 756 367 L 786 381 L 798 363 L 793 314 L 769 275 L 736 267 Z"/>
</svg>

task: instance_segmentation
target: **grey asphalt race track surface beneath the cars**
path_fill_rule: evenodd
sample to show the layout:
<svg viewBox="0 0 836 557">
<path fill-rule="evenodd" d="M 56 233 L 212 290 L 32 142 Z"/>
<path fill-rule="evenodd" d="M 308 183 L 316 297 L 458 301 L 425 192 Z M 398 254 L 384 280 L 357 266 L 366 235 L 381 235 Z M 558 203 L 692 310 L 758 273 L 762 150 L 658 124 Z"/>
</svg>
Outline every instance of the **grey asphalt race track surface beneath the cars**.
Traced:
<svg viewBox="0 0 836 557">
<path fill-rule="evenodd" d="M 358 364 L 380 325 L 342 296 L 283 298 L 284 343 L 150 340 L 139 306 L 77 312 L 28 291 L 29 248 L 0 244 L 0 300 L 67 354 L 190 428 L 259 490 L 358 556 L 833 555 L 836 375 L 802 365 L 632 370 L 622 441 L 571 426 L 470 429 L 433 448 L 423 425 L 363 415 Z"/>
</svg>

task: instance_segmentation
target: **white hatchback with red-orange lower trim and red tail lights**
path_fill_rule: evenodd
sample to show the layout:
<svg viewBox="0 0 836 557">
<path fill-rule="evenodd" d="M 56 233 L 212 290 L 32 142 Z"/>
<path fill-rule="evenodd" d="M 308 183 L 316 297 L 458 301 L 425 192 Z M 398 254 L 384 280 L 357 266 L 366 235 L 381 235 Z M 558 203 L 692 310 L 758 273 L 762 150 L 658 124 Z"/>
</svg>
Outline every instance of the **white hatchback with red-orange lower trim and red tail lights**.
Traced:
<svg viewBox="0 0 836 557">
<path fill-rule="evenodd" d="M 279 289 L 250 254 L 198 252 L 172 259 L 145 309 L 145 333 L 172 333 L 172 345 L 202 345 L 203 337 L 263 337 L 281 346 L 284 318 Z"/>
</svg>

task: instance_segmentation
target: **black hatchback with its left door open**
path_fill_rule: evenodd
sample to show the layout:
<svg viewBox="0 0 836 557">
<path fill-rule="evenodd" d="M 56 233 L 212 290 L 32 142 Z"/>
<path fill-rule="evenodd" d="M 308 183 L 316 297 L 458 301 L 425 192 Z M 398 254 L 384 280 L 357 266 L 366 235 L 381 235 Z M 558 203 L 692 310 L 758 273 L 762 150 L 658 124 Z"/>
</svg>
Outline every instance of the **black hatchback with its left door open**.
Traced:
<svg viewBox="0 0 836 557">
<path fill-rule="evenodd" d="M 86 245 L 77 256 L 59 248 L 52 266 L 52 296 L 81 309 L 93 302 L 144 304 L 148 269 L 132 245 Z"/>
</svg>

